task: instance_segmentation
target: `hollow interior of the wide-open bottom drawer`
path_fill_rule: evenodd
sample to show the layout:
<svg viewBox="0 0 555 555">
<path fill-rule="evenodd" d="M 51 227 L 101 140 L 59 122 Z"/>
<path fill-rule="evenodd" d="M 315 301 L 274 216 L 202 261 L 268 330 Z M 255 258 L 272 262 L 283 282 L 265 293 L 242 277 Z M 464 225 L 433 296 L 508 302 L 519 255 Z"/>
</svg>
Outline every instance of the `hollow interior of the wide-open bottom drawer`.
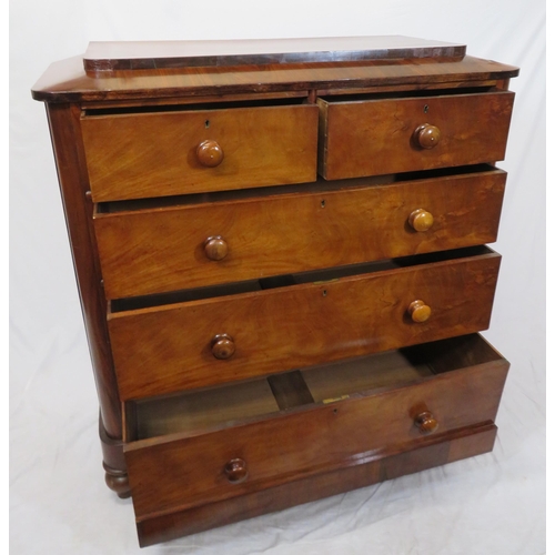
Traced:
<svg viewBox="0 0 555 555">
<path fill-rule="evenodd" d="M 128 401 L 125 441 L 194 436 L 501 360 L 480 334 L 471 334 L 252 381 Z"/>
</svg>

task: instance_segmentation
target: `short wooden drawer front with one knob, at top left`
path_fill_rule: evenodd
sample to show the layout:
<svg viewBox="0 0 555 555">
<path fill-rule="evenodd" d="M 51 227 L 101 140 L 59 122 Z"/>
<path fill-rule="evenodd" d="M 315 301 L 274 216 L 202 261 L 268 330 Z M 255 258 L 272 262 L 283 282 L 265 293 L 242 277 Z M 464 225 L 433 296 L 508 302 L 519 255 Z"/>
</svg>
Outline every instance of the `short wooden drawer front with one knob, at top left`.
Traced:
<svg viewBox="0 0 555 555">
<path fill-rule="evenodd" d="M 316 175 L 315 105 L 85 115 L 81 127 L 95 202 Z"/>
</svg>

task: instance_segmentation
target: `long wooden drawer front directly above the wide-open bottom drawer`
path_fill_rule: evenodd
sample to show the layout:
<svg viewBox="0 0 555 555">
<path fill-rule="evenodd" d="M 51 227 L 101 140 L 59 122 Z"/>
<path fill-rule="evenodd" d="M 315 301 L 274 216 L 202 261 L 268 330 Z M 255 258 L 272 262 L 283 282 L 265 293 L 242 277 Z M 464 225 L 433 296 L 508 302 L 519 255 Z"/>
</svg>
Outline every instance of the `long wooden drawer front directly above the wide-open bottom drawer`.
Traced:
<svg viewBox="0 0 555 555">
<path fill-rule="evenodd" d="M 121 398 L 485 330 L 500 261 L 481 254 L 113 313 L 108 325 Z M 416 300 L 432 311 L 420 323 L 407 312 Z"/>
</svg>

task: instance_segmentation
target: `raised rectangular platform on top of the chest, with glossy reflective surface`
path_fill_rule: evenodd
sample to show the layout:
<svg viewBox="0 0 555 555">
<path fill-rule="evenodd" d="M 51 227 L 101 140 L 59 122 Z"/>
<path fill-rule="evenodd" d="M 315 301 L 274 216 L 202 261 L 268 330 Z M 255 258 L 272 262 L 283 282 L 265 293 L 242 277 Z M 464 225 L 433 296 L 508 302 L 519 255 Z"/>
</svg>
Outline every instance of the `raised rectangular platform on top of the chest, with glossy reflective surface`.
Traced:
<svg viewBox="0 0 555 555">
<path fill-rule="evenodd" d="M 384 59 L 461 60 L 464 44 L 412 37 L 91 42 L 85 71 L 352 62 Z"/>
</svg>

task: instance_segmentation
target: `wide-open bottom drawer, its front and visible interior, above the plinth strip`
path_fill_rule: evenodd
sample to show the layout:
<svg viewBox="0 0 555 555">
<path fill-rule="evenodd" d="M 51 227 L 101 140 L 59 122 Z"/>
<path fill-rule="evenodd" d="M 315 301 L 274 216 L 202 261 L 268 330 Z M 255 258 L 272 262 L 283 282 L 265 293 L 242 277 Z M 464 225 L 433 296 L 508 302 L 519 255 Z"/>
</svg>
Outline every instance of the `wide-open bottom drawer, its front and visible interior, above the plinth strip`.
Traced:
<svg viewBox="0 0 555 555">
<path fill-rule="evenodd" d="M 138 523 L 492 423 L 507 370 L 473 334 L 269 376 L 256 386 L 127 403 Z"/>
</svg>

